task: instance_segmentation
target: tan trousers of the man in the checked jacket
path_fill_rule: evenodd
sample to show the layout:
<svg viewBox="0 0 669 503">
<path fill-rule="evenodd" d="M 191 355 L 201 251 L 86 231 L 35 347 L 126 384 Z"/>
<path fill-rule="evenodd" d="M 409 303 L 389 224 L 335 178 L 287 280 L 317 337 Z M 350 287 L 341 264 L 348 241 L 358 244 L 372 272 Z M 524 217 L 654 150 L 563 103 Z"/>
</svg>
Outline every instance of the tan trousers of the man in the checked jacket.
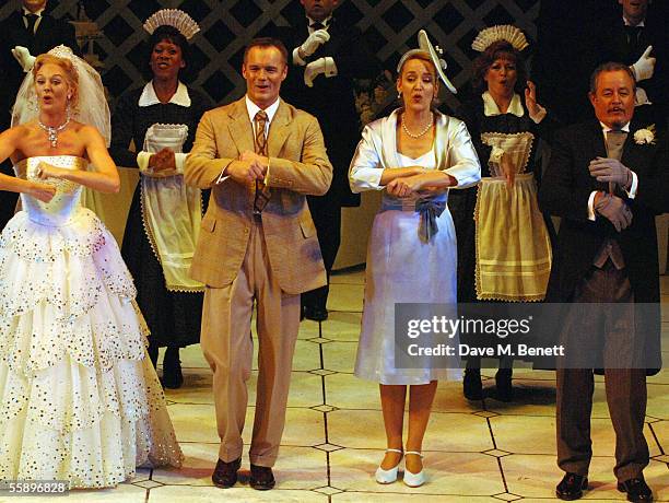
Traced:
<svg viewBox="0 0 669 503">
<path fill-rule="evenodd" d="M 260 221 L 255 221 L 239 273 L 225 288 L 207 288 L 201 346 L 213 371 L 213 395 L 221 447 L 226 463 L 242 456 L 257 306 L 258 385 L 250 463 L 271 467 L 285 423 L 293 352 L 300 328 L 300 295 L 281 291 L 273 277 Z"/>
</svg>

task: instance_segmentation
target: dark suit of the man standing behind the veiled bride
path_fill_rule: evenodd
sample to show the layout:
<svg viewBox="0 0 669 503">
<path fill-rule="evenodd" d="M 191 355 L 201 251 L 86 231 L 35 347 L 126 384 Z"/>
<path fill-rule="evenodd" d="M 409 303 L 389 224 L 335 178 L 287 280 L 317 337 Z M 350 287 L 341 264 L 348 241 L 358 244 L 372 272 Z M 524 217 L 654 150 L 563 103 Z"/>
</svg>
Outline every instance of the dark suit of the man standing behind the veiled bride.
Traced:
<svg viewBox="0 0 669 503">
<path fill-rule="evenodd" d="M 38 56 L 59 44 L 64 44 L 79 54 L 74 26 L 49 14 L 42 15 L 42 21 L 34 34 L 30 33 L 25 26 L 23 10 L 13 12 L 0 22 L 0 130 L 4 131 L 10 127 L 11 109 L 25 77 L 11 50 L 15 46 L 23 46 L 31 51 L 31 55 Z M 2 171 L 13 174 L 9 162 L 3 163 Z M 12 192 L 3 192 L 0 197 L 0 229 L 4 227 L 14 214 L 16 197 Z"/>
</svg>

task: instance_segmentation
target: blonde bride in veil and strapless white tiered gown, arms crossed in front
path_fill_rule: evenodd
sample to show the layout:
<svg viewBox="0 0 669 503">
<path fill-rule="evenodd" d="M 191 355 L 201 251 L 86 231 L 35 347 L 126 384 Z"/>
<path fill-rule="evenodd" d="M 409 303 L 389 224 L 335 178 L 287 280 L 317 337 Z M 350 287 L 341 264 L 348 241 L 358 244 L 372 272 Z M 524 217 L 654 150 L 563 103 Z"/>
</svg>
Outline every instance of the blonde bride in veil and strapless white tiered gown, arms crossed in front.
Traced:
<svg viewBox="0 0 669 503">
<path fill-rule="evenodd" d="M 103 488 L 181 464 L 132 278 L 80 202 L 82 187 L 119 189 L 108 120 L 99 75 L 59 46 L 0 134 L 16 174 L 0 189 L 23 207 L 0 236 L 0 480 Z"/>
</svg>

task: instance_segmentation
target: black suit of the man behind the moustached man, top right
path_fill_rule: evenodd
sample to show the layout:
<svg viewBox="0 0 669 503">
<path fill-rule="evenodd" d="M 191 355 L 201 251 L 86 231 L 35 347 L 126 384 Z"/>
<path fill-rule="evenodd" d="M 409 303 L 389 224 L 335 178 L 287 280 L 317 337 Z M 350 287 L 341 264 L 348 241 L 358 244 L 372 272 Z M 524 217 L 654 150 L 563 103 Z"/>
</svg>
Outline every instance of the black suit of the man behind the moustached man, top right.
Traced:
<svg viewBox="0 0 669 503">
<path fill-rule="evenodd" d="M 606 61 L 625 65 L 636 62 L 648 45 L 657 58 L 652 79 L 639 85 L 647 92 L 655 110 L 637 107 L 635 115 L 654 113 L 646 119 L 667 125 L 669 35 L 667 34 L 667 2 L 648 5 L 646 27 L 636 47 L 629 46 L 623 27 L 622 9 L 618 2 L 579 0 L 578 15 L 574 16 L 575 2 L 542 0 L 537 20 L 537 55 L 532 62 L 532 75 L 539 92 L 539 102 L 560 116 L 564 124 L 575 124 L 591 117 L 588 102 L 588 82 L 595 68 Z M 568 84 L 555 75 L 570 75 Z M 664 120 L 658 116 L 664 116 Z"/>
</svg>

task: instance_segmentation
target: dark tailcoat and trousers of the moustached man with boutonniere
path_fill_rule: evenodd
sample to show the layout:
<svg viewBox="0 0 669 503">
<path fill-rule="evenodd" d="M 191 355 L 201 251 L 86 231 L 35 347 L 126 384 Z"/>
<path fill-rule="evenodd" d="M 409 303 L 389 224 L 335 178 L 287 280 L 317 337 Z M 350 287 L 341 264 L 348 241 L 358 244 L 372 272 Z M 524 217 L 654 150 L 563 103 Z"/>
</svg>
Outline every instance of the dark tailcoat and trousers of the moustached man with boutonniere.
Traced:
<svg viewBox="0 0 669 503">
<path fill-rule="evenodd" d="M 668 211 L 667 139 L 660 136 L 655 144 L 637 144 L 634 132 L 647 126 L 633 121 L 623 145 L 621 162 L 638 176 L 635 199 L 629 200 L 631 225 L 618 233 L 603 217 L 587 218 L 588 198 L 594 190 L 607 190 L 588 172 L 596 156 L 607 156 L 601 126 L 598 121 L 575 125 L 559 131 L 552 145 L 551 162 L 539 191 L 544 211 L 562 217 L 548 300 L 553 302 L 620 302 L 620 308 L 631 309 L 621 318 L 623 330 L 607 326 L 603 334 L 606 391 L 611 421 L 617 433 L 615 476 L 619 481 L 642 476 L 648 464 L 648 448 L 643 435 L 646 408 L 646 369 L 621 369 L 608 365 L 615 358 L 612 348 L 632 348 L 647 366 L 659 369 L 659 280 L 655 215 Z M 606 239 L 618 243 L 624 268 L 618 270 L 609 260 L 605 267 L 594 266 Z M 610 243 L 610 242 L 609 242 Z M 601 282 L 603 279 L 603 282 Z M 622 285 L 617 291 L 592 295 L 607 281 Z M 592 286 L 597 286 L 594 289 Z M 601 293 L 603 292 L 603 293 Z M 657 309 L 644 309 L 643 303 Z M 632 306 L 632 307 L 630 307 Z M 635 311 L 636 309 L 636 311 Z M 568 314 L 566 315 L 568 316 Z M 565 316 L 565 319 L 566 319 Z M 595 337 L 590 320 L 584 320 L 570 332 L 571 341 L 586 348 Z M 562 323 L 559 325 L 563 325 Z M 564 321 L 564 326 L 568 323 Z M 630 341 L 634 341 L 630 344 Z M 641 341 L 641 342 L 639 342 Z M 567 348 L 568 351 L 568 348 Z M 631 356 L 636 358 L 634 354 Z M 585 367 L 560 367 L 558 371 L 558 464 L 567 472 L 587 475 L 591 458 L 589 416 L 592 405 L 592 372 Z"/>
</svg>

